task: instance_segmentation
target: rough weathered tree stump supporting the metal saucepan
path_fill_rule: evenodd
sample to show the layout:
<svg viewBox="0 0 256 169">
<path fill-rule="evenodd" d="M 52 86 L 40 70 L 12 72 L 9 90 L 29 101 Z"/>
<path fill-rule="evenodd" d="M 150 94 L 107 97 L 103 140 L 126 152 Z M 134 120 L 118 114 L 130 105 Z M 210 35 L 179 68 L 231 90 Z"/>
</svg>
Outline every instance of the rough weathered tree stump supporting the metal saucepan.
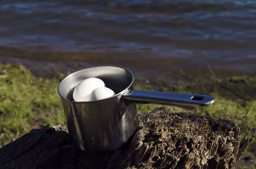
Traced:
<svg viewBox="0 0 256 169">
<path fill-rule="evenodd" d="M 230 120 L 142 112 L 140 130 L 111 152 L 83 152 L 63 125 L 32 129 L 0 149 L 0 168 L 235 168 L 253 138 Z"/>
</svg>

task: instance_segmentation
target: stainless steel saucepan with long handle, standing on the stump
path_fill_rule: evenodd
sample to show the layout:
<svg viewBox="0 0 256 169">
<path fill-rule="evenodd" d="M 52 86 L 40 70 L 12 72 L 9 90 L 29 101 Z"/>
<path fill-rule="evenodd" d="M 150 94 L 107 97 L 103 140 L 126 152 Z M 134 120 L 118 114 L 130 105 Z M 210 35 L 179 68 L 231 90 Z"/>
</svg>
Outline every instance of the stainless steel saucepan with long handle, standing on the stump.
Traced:
<svg viewBox="0 0 256 169">
<path fill-rule="evenodd" d="M 115 92 L 97 101 L 74 101 L 75 87 L 86 78 L 100 78 Z M 156 103 L 182 108 L 211 105 L 214 98 L 202 94 L 139 91 L 133 89 L 134 76 L 120 66 L 97 66 L 76 71 L 58 85 L 67 119 L 68 132 L 83 151 L 118 149 L 139 129 L 136 104 Z"/>
</svg>

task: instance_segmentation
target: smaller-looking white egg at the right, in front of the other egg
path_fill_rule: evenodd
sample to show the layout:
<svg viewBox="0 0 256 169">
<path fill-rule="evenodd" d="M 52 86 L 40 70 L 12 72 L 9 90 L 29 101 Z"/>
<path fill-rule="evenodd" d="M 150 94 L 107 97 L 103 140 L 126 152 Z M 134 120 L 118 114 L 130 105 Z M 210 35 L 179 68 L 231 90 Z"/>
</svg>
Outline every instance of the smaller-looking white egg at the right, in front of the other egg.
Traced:
<svg viewBox="0 0 256 169">
<path fill-rule="evenodd" d="M 115 95 L 115 92 L 109 89 L 108 87 L 98 87 L 97 89 L 92 91 L 90 96 L 90 101 L 106 99 L 114 95 Z"/>
</svg>

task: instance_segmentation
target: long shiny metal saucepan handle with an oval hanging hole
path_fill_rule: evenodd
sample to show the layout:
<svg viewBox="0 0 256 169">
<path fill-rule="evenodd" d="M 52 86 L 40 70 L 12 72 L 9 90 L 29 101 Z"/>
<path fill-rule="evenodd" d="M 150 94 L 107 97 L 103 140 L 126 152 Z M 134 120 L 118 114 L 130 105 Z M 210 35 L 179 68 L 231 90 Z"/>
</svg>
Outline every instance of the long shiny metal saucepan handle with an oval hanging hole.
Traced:
<svg viewBox="0 0 256 169">
<path fill-rule="evenodd" d="M 125 94 L 122 98 L 127 103 L 156 103 L 188 109 L 211 105 L 214 102 L 214 98 L 209 95 L 138 90 Z"/>
</svg>

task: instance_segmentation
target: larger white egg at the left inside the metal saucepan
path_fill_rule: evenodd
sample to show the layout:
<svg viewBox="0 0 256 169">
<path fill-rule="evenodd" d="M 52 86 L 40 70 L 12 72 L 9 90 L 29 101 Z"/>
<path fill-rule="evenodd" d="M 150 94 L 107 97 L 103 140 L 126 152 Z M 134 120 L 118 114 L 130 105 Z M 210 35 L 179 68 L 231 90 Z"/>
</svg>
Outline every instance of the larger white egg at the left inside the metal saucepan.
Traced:
<svg viewBox="0 0 256 169">
<path fill-rule="evenodd" d="M 74 101 L 90 101 L 90 94 L 98 87 L 105 87 L 102 80 L 99 78 L 86 78 L 74 89 Z"/>
</svg>

